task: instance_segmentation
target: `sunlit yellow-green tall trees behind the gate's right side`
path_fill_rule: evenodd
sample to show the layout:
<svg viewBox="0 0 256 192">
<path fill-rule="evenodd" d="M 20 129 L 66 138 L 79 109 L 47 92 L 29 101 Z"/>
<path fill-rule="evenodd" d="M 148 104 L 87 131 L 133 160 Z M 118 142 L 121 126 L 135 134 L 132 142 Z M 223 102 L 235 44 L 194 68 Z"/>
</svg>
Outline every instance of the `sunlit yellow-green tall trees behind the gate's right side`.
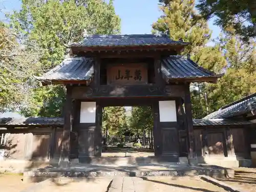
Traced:
<svg viewBox="0 0 256 192">
<path fill-rule="evenodd" d="M 237 26 L 230 23 L 231 26 L 228 26 L 228 30 L 232 32 L 231 35 L 227 33 L 220 36 L 215 40 L 215 46 L 207 46 L 210 30 L 207 27 L 206 19 L 196 14 L 194 0 L 160 0 L 159 2 L 163 14 L 153 24 L 153 32 L 165 32 L 174 40 L 182 38 L 184 41 L 190 42 L 190 46 L 182 54 L 189 53 L 190 58 L 200 66 L 217 74 L 225 72 L 224 77 L 220 78 L 216 84 L 191 84 L 194 118 L 203 118 L 221 106 L 256 91 L 254 41 L 250 40 L 245 44 L 241 41 L 241 36 L 232 35 Z M 209 7 L 212 8 L 219 3 L 224 3 L 224 1 L 218 1 Z M 239 4 L 232 3 L 232 6 L 235 7 Z M 225 6 L 222 8 L 226 9 Z M 203 13 L 207 9 L 204 7 L 201 12 Z M 229 14 L 230 12 L 222 13 Z"/>
</svg>

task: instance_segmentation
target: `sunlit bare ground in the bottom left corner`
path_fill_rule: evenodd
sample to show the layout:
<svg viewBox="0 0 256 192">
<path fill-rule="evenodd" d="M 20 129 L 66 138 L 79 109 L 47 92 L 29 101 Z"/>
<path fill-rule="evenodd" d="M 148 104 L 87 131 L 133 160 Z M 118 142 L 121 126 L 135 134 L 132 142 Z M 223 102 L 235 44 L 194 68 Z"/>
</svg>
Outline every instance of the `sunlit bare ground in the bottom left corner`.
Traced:
<svg viewBox="0 0 256 192">
<path fill-rule="evenodd" d="M 33 185 L 33 183 L 23 182 L 22 179 L 23 179 L 22 175 L 0 173 L 0 191 L 1 192 L 18 192 Z"/>
</svg>

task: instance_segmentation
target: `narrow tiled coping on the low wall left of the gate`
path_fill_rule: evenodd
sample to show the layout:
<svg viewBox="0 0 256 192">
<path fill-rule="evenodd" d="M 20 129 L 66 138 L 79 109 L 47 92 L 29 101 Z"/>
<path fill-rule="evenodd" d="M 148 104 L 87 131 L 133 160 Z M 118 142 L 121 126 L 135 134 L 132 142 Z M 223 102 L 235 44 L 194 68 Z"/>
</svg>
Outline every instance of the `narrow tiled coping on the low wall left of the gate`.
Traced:
<svg viewBox="0 0 256 192">
<path fill-rule="evenodd" d="M 60 117 L 23 117 L 0 118 L 0 126 L 26 126 L 26 125 L 60 125 L 64 124 Z"/>
</svg>

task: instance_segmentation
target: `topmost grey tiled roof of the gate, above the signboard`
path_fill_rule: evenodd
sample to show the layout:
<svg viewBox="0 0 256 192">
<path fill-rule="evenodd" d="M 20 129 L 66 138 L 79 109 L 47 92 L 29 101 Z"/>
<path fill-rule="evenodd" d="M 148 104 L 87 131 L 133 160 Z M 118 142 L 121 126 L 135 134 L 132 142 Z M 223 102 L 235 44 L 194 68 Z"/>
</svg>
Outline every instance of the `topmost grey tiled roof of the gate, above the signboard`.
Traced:
<svg viewBox="0 0 256 192">
<path fill-rule="evenodd" d="M 173 46 L 188 43 L 171 40 L 167 35 L 91 35 L 70 47 Z"/>
</svg>

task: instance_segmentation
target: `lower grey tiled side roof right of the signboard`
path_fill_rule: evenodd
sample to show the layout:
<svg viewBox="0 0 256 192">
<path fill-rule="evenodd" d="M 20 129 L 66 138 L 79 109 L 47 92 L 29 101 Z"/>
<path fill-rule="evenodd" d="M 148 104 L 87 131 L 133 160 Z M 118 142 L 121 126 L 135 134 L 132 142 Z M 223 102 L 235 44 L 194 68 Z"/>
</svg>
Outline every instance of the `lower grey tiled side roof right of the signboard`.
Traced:
<svg viewBox="0 0 256 192">
<path fill-rule="evenodd" d="M 162 59 L 162 73 L 167 79 L 220 77 L 182 56 Z"/>
</svg>

